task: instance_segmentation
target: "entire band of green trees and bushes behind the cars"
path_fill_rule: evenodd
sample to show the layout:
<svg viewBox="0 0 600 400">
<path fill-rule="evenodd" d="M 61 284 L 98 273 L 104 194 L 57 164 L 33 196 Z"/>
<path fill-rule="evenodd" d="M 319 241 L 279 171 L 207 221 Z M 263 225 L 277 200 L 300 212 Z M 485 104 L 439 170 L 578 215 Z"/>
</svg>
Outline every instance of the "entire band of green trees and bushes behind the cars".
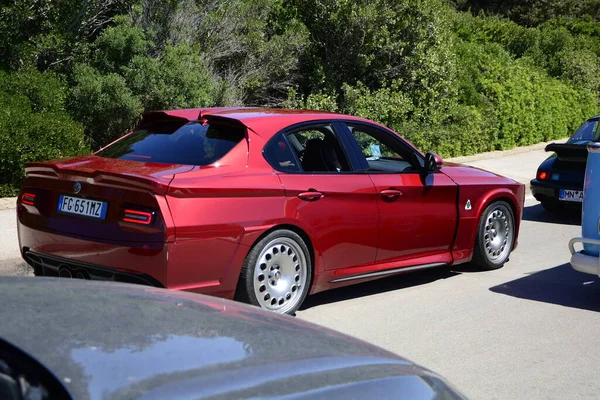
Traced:
<svg viewBox="0 0 600 400">
<path fill-rule="evenodd" d="M 600 0 L 8 0 L 0 195 L 144 110 L 313 108 L 458 156 L 597 114 Z"/>
</svg>

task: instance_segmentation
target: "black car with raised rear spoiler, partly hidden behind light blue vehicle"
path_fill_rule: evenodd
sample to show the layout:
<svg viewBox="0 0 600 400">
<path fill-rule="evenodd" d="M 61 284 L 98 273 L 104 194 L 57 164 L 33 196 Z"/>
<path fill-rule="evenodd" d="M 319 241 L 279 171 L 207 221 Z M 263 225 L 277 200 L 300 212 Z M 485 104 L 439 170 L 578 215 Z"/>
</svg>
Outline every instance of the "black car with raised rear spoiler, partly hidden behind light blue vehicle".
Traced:
<svg viewBox="0 0 600 400">
<path fill-rule="evenodd" d="M 554 152 L 538 167 L 531 181 L 531 193 L 547 211 L 566 205 L 580 207 L 583 201 L 583 177 L 587 144 L 600 137 L 600 115 L 581 125 L 567 143 L 551 143 L 546 151 Z"/>
</svg>

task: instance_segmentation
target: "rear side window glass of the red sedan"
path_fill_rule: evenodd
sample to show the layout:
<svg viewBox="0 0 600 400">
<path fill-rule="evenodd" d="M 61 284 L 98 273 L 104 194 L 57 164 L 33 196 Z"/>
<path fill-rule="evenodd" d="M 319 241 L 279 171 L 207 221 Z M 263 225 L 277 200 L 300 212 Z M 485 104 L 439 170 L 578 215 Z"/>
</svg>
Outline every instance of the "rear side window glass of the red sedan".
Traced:
<svg viewBox="0 0 600 400">
<path fill-rule="evenodd" d="M 279 156 L 276 156 L 278 151 Z M 265 147 L 264 154 L 269 163 L 280 171 L 346 172 L 351 170 L 348 157 L 331 124 L 303 126 L 286 132 L 285 138 L 276 136 Z"/>
</svg>

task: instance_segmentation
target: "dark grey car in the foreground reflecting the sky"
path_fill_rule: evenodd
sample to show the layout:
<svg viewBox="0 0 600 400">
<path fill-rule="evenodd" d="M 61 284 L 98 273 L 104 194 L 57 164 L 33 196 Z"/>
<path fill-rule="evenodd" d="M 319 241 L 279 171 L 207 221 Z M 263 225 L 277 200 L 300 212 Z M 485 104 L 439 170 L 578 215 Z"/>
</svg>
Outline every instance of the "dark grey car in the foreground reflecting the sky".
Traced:
<svg viewBox="0 0 600 400">
<path fill-rule="evenodd" d="M 0 301 L 2 400 L 464 398 L 385 350 L 229 300 L 1 278 Z"/>
</svg>

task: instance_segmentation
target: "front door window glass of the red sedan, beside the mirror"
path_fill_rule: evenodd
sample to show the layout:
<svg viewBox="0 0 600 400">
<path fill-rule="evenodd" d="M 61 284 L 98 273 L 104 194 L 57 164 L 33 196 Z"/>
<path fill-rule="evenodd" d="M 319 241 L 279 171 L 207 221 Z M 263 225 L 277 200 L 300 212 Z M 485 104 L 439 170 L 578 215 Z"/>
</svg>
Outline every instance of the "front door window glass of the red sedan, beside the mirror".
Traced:
<svg viewBox="0 0 600 400">
<path fill-rule="evenodd" d="M 417 172 L 420 157 L 388 132 L 363 124 L 347 124 L 371 172 Z"/>
</svg>

